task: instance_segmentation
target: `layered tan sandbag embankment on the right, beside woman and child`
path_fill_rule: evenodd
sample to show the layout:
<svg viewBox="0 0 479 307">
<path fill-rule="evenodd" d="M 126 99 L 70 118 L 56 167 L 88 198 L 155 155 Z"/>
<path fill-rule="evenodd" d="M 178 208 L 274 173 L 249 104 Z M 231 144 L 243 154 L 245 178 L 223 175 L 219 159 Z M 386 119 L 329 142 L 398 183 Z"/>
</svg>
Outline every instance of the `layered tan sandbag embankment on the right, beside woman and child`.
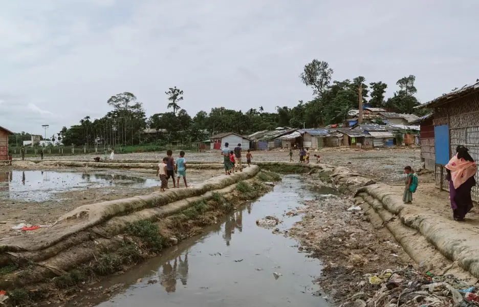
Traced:
<svg viewBox="0 0 479 307">
<path fill-rule="evenodd" d="M 402 202 L 403 187 L 376 183 L 345 167 L 334 168 L 334 182 L 354 193 L 355 204 L 378 227 L 387 227 L 408 255 L 425 271 L 479 278 L 479 231 L 475 221 L 458 223 L 431 207 L 433 198 Z M 421 189 L 415 193 L 421 193 Z M 439 191 L 438 191 L 439 194 Z M 432 203 L 431 203 L 432 201 Z M 441 198 L 444 201 L 444 198 Z"/>
</svg>

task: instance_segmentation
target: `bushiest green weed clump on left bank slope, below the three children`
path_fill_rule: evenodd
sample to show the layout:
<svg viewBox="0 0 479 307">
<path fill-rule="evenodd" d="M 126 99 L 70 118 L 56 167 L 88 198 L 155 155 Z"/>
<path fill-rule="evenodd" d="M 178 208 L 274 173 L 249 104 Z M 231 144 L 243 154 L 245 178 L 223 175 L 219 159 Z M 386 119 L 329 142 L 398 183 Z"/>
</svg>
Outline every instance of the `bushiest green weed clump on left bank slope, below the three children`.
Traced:
<svg viewBox="0 0 479 307">
<path fill-rule="evenodd" d="M 166 239 L 160 234 L 158 225 L 151 221 L 138 221 L 128 224 L 126 232 L 138 237 L 143 246 L 152 251 L 159 252 L 166 244 Z"/>
</svg>

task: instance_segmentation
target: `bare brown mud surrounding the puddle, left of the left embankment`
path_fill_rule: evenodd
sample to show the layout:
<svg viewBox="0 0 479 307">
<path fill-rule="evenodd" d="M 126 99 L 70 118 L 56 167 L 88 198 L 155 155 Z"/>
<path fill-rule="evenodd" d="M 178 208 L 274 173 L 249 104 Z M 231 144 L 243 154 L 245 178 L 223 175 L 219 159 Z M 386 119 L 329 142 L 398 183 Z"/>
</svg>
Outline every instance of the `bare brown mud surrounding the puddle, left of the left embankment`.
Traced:
<svg viewBox="0 0 479 307">
<path fill-rule="evenodd" d="M 34 170 L 39 170 L 33 168 Z M 11 169 L 10 169 L 11 170 Z M 6 170 L 7 172 L 10 170 Z M 0 172 L 5 171 L 0 169 Z M 55 171 L 61 173 L 82 173 L 82 174 L 106 174 L 107 176 L 128 176 L 135 178 L 153 179 L 158 180 L 156 172 L 149 169 L 75 169 L 75 168 L 61 168 L 61 169 L 43 169 L 43 171 Z M 211 177 L 219 176 L 222 174 L 222 170 L 209 170 L 209 169 L 190 169 L 187 173 L 188 184 L 194 186 L 201 183 Z M 117 178 L 117 177 L 115 177 Z M 28 176 L 26 176 L 25 185 L 32 185 L 32 190 L 37 189 L 37 182 L 29 182 Z M 112 179 L 112 182 L 121 181 L 121 179 Z M 158 182 L 160 184 L 160 182 Z M 4 182 L 1 187 L 3 190 L 7 190 L 6 195 L 0 197 L 0 206 L 2 212 L 0 214 L 0 238 L 21 235 L 22 233 L 11 228 L 20 223 L 30 225 L 51 225 L 59 216 L 72 209 L 92 203 L 99 203 L 103 201 L 110 201 L 122 198 L 128 198 L 136 195 L 144 195 L 159 190 L 158 186 L 141 188 L 138 186 L 128 185 L 116 185 L 116 186 L 101 186 L 95 184 L 88 184 L 80 189 L 71 189 L 67 191 L 55 191 L 48 190 L 51 193 L 51 198 L 45 201 L 31 202 L 26 200 L 11 199 L 9 197 L 8 190 L 12 189 L 10 186 L 12 183 Z M 183 182 L 180 183 L 183 186 Z M 169 187 L 172 188 L 172 181 L 169 181 Z"/>
</svg>

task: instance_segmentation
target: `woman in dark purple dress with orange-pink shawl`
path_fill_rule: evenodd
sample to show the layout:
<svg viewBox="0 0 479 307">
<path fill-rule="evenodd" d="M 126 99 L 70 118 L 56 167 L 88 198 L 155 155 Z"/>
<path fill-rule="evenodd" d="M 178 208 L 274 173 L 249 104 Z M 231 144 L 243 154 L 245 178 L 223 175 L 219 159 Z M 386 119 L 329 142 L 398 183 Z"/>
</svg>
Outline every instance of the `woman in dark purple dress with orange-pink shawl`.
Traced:
<svg viewBox="0 0 479 307">
<path fill-rule="evenodd" d="M 451 199 L 452 218 L 454 221 L 464 221 L 471 211 L 471 189 L 476 185 L 475 174 L 477 164 L 469 155 L 469 150 L 463 145 L 456 148 L 456 154 L 446 165 L 446 180 L 449 181 L 449 196 Z"/>
</svg>

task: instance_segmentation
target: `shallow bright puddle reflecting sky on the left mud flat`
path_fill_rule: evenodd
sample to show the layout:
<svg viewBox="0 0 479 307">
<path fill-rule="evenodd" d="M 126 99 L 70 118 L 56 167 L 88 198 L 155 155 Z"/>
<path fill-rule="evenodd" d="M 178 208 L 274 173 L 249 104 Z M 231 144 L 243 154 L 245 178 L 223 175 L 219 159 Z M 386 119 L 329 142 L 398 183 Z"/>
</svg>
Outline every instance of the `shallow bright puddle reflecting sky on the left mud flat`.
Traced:
<svg viewBox="0 0 479 307">
<path fill-rule="evenodd" d="M 78 173 L 13 170 L 0 172 L 0 199 L 42 202 L 54 198 L 55 193 L 86 188 L 128 186 L 148 188 L 158 186 L 155 179 L 129 177 L 116 173 Z"/>
</svg>

